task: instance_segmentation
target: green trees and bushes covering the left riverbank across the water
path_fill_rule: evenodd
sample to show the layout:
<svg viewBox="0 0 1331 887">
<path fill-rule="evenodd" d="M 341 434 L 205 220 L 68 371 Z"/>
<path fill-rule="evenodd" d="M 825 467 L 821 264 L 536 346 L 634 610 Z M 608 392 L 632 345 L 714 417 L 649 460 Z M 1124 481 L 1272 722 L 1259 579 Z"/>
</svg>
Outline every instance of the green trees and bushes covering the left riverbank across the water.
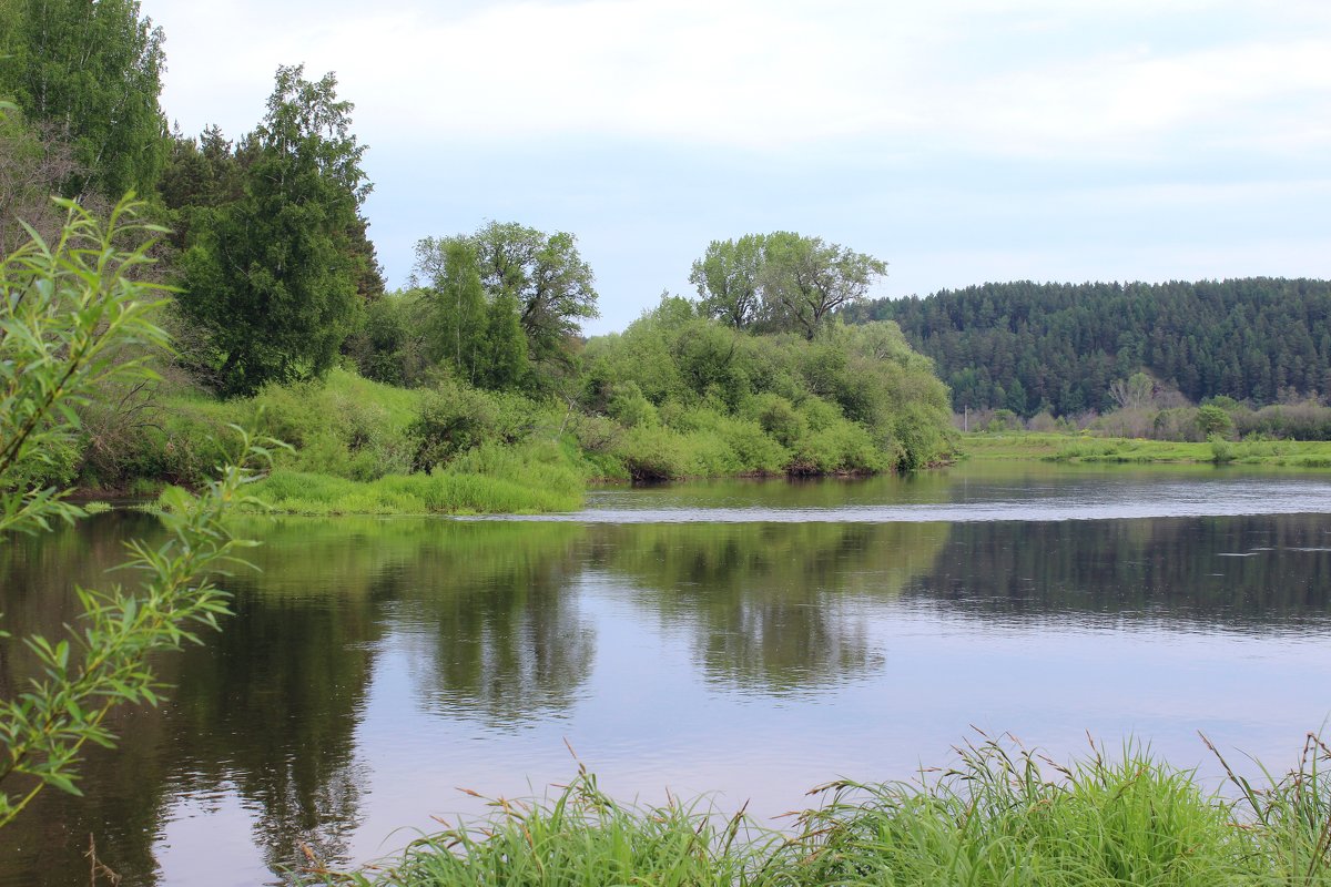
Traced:
<svg viewBox="0 0 1331 887">
<path fill-rule="evenodd" d="M 134 0 L 0 0 L 0 247 L 68 233 L 52 195 L 161 227 L 172 295 L 152 382 L 108 384 L 36 483 L 197 487 L 226 427 L 291 444 L 261 493 L 306 512 L 572 508 L 588 480 L 909 469 L 945 457 L 948 394 L 893 323 L 847 327 L 880 259 L 791 231 L 717 241 L 696 301 L 584 339 L 568 231 L 422 233 L 389 291 L 373 185 L 333 73 L 280 66 L 254 128 L 172 132 L 161 28 Z M 120 207 L 116 210 L 114 207 Z M 124 245 L 137 246 L 137 245 Z M 69 249 L 77 249 L 72 243 Z"/>
</svg>

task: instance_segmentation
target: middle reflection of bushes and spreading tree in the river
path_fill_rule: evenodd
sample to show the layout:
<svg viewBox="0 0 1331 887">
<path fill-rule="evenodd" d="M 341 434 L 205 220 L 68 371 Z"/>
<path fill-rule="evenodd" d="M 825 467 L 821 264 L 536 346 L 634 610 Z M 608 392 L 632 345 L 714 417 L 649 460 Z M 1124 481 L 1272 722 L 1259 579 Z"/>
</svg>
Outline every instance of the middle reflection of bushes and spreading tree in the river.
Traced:
<svg viewBox="0 0 1331 887">
<path fill-rule="evenodd" d="M 704 673 L 745 690 L 816 690 L 864 673 L 864 598 L 933 567 L 941 524 L 639 524 L 600 528 L 596 560 L 687 625 Z"/>
</svg>

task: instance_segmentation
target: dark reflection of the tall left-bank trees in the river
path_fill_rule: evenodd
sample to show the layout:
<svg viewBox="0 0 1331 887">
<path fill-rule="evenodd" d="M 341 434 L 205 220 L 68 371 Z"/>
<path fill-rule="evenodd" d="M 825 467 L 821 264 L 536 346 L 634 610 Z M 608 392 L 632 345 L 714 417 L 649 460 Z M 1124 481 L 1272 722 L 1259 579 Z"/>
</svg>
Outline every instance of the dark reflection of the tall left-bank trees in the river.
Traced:
<svg viewBox="0 0 1331 887">
<path fill-rule="evenodd" d="M 450 715 L 516 723 L 568 705 L 591 669 L 592 632 L 563 593 L 580 527 L 343 519 L 238 529 L 265 540 L 250 552 L 262 572 L 228 582 L 236 613 L 224 632 L 158 662 L 169 703 L 117 713 L 122 741 L 87 755 L 87 798 L 44 793 L 7 830 L 21 852 L 0 854 L 0 883 L 37 872 L 75 883 L 89 834 L 129 883 L 153 883 L 153 840 L 181 794 L 234 791 L 257 813 L 270 867 L 297 863 L 301 843 L 337 859 L 363 790 L 358 713 L 382 644 L 403 624 L 431 637 L 422 693 Z M 75 582 L 105 584 L 120 540 L 157 532 L 152 519 L 117 515 L 7 543 L 5 626 L 59 634 L 77 613 Z M 21 656 L 0 660 L 0 692 L 29 673 Z"/>
</svg>

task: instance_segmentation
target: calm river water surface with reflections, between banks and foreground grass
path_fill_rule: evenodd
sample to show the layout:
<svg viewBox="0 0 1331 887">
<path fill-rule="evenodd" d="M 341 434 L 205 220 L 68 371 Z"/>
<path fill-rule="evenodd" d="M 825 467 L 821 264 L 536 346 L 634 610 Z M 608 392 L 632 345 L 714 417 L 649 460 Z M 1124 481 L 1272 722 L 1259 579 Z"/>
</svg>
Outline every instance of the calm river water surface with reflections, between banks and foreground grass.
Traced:
<svg viewBox="0 0 1331 887">
<path fill-rule="evenodd" d="M 1197 731 L 1292 763 L 1331 714 L 1331 475 L 964 467 L 604 491 L 558 520 L 254 521 L 236 616 L 164 657 L 158 710 L 0 832 L 0 884 L 278 882 L 387 854 L 457 791 L 526 797 L 568 746 L 620 798 L 769 818 L 909 778 L 972 725 L 1055 757 Z M 0 610 L 56 633 L 152 519 L 0 547 Z M 0 693 L 27 661 L 0 646 Z M 566 745 L 567 742 L 567 745 Z M 1242 755 L 1231 755 L 1243 761 Z"/>
</svg>

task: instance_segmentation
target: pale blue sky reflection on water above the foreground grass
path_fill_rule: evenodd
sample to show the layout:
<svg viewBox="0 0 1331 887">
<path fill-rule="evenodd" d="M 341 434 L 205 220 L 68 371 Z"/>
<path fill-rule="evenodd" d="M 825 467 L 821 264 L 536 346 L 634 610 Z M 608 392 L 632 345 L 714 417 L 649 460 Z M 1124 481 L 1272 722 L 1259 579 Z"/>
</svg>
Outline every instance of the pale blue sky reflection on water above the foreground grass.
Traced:
<svg viewBox="0 0 1331 887">
<path fill-rule="evenodd" d="M 708 681 L 687 632 L 642 612 L 622 580 L 591 574 L 574 593 L 596 636 L 595 669 L 567 711 L 522 729 L 414 707 L 410 645 L 385 642 L 358 733 L 375 763 L 353 852 L 401 844 L 386 838 L 393 828 L 429 828 L 431 815 L 483 813 L 459 786 L 540 794 L 575 770 L 566 742 L 616 797 L 712 793 L 723 811 L 751 801 L 767 821 L 836 777 L 909 778 L 920 765 L 946 763 L 972 726 L 1012 730 L 1055 759 L 1085 753 L 1087 731 L 1111 753 L 1139 737 L 1178 766 L 1199 765 L 1215 785 L 1219 770 L 1198 730 L 1222 750 L 1283 767 L 1303 731 L 1331 714 L 1331 699 L 1308 693 L 1331 682 L 1324 630 L 1255 636 L 1057 614 L 990 624 L 861 597 L 847 617 L 870 626 L 882 654 L 872 673 L 773 698 Z"/>
</svg>

